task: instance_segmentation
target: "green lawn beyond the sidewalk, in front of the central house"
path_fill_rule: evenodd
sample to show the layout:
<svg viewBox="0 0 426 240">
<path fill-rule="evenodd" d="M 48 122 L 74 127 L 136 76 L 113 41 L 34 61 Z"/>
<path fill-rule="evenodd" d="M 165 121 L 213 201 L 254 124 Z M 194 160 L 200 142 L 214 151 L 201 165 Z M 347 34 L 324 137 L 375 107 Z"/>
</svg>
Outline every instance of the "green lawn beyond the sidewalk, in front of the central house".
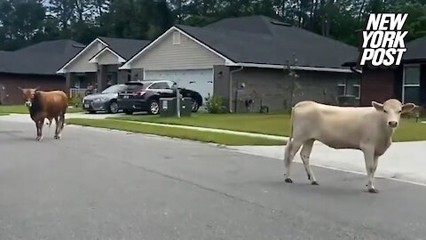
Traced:
<svg viewBox="0 0 426 240">
<path fill-rule="evenodd" d="M 195 114 L 191 117 L 122 116 L 123 120 L 160 124 L 181 124 L 210 127 L 242 132 L 256 132 L 288 136 L 290 117 L 285 114 Z M 426 124 L 415 123 L 414 119 L 402 119 L 393 135 L 394 141 L 426 140 Z"/>
</svg>

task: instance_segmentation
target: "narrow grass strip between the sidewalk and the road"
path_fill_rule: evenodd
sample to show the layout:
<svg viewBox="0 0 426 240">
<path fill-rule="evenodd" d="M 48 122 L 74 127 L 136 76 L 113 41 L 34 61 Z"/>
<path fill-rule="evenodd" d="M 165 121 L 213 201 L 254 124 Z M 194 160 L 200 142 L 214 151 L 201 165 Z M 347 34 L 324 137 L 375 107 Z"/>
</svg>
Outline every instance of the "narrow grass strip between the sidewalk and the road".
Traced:
<svg viewBox="0 0 426 240">
<path fill-rule="evenodd" d="M 229 146 L 284 145 L 286 143 L 284 140 L 268 140 L 264 138 L 245 137 L 245 136 L 233 135 L 228 133 L 201 132 L 196 130 L 170 128 L 167 126 L 143 125 L 143 124 L 135 124 L 135 123 L 129 123 L 129 122 L 121 122 L 121 121 L 117 121 L 113 119 L 70 118 L 70 119 L 67 119 L 67 124 L 100 127 L 100 128 L 106 128 L 106 129 L 122 130 L 127 132 L 148 133 L 148 134 L 168 136 L 168 137 L 185 139 L 185 140 L 213 142 L 213 143 L 225 144 Z"/>
</svg>

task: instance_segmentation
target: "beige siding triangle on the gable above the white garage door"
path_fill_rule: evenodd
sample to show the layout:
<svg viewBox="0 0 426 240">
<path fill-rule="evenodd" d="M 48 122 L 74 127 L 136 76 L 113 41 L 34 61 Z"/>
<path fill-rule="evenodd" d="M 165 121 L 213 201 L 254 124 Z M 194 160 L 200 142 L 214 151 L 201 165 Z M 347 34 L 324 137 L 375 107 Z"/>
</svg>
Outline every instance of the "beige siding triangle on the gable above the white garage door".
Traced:
<svg viewBox="0 0 426 240">
<path fill-rule="evenodd" d="M 225 60 L 189 37 L 181 35 L 180 44 L 173 44 L 173 32 L 134 60 L 130 68 L 146 70 L 200 69 L 224 65 Z"/>
</svg>

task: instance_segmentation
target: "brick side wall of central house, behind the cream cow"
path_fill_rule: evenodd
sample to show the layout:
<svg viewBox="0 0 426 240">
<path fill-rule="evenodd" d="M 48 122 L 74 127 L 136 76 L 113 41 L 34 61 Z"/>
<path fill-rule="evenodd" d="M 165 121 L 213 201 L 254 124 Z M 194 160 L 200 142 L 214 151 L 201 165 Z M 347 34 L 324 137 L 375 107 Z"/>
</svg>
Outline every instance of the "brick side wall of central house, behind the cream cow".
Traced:
<svg viewBox="0 0 426 240">
<path fill-rule="evenodd" d="M 337 84 L 343 82 L 359 81 L 359 75 L 355 73 L 332 73 L 319 71 L 296 71 L 300 76 L 298 83 L 301 85 L 299 92 L 293 99 L 293 105 L 301 100 L 315 100 L 327 104 L 336 104 L 338 95 Z M 216 74 L 216 69 L 215 69 Z M 216 78 L 215 78 L 216 81 Z M 244 68 L 233 75 L 233 108 L 237 85 L 245 84 L 245 88 L 237 93 L 238 112 L 247 111 L 246 100 L 254 100 L 253 109 L 258 111 L 260 101 L 262 105 L 269 107 L 270 111 L 280 111 L 290 106 L 288 86 L 292 78 L 288 71 L 283 69 L 268 68 Z M 216 82 L 215 82 L 216 84 Z M 216 92 L 216 88 L 215 88 Z"/>
</svg>

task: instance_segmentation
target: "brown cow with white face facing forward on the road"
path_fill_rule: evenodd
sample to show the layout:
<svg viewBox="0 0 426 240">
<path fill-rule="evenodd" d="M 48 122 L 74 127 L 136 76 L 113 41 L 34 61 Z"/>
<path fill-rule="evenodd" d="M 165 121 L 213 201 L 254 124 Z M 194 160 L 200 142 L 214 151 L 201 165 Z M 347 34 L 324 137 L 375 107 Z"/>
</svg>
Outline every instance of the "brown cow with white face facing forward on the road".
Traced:
<svg viewBox="0 0 426 240">
<path fill-rule="evenodd" d="M 37 138 L 36 140 L 43 140 L 43 124 L 44 119 L 49 122 L 55 119 L 56 130 L 55 139 L 60 139 L 60 132 L 64 129 L 65 113 L 68 107 L 68 97 L 65 92 L 39 91 L 38 87 L 35 89 L 22 89 L 25 106 L 28 107 L 31 119 L 36 123 Z"/>
</svg>

